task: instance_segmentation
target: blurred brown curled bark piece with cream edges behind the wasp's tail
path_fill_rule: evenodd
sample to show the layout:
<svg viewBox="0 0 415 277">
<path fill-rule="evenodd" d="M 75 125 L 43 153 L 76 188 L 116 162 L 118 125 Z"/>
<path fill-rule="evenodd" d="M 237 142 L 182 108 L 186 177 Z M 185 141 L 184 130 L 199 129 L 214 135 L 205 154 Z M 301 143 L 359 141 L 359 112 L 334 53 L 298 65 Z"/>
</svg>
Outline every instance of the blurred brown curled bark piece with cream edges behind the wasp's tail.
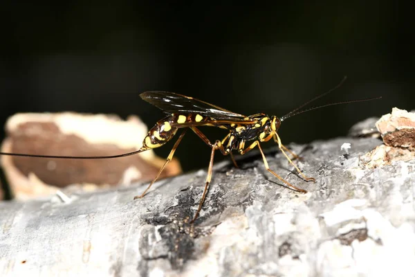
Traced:
<svg viewBox="0 0 415 277">
<path fill-rule="evenodd" d="M 2 152 L 57 156 L 109 156 L 140 148 L 147 127 L 136 116 L 75 113 L 16 114 L 6 123 Z M 152 150 L 118 159 L 39 159 L 1 157 L 12 193 L 18 199 L 55 193 L 59 188 L 94 190 L 153 179 L 165 159 Z M 161 177 L 181 172 L 177 160 Z"/>
</svg>

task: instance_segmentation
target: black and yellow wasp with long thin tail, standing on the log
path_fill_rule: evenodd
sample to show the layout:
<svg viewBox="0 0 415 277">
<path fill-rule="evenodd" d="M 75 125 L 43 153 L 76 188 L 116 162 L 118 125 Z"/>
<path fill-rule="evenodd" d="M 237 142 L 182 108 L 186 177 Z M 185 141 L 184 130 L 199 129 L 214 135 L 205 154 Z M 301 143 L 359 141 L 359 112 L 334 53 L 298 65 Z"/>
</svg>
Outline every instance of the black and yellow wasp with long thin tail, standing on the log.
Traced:
<svg viewBox="0 0 415 277">
<path fill-rule="evenodd" d="M 277 117 L 277 116 L 268 116 L 266 114 L 254 114 L 252 116 L 243 116 L 242 114 L 237 114 L 232 111 L 228 111 L 227 109 L 223 109 L 216 105 L 212 105 L 208 102 L 204 102 L 202 100 L 197 100 L 195 98 L 189 96 L 183 96 L 177 93 L 171 93 L 166 91 L 147 91 L 140 94 L 140 97 L 149 102 L 150 104 L 158 107 L 161 109 L 167 116 L 165 118 L 159 120 L 154 127 L 152 127 L 145 139 L 142 142 L 142 147 L 139 150 L 134 152 L 118 154 L 113 156 L 102 156 L 102 157 L 71 157 L 71 156 L 49 156 L 49 155 L 37 155 L 37 154 L 19 154 L 19 153 L 5 153 L 0 152 L 3 155 L 10 155 L 10 156 L 20 156 L 20 157 L 38 157 L 38 158 L 53 158 L 53 159 L 112 159 L 112 158 L 119 158 L 119 157 L 126 157 L 133 154 L 138 154 L 140 152 L 144 152 L 150 149 L 159 148 L 168 141 L 170 141 L 179 129 L 183 129 L 180 136 L 172 150 L 169 153 L 165 163 L 158 171 L 158 174 L 154 178 L 153 181 L 147 186 L 145 191 L 134 199 L 139 199 L 145 196 L 154 182 L 160 177 L 161 172 L 167 164 L 172 161 L 174 156 L 174 152 L 178 148 L 178 145 L 181 143 L 183 136 L 185 136 L 188 129 L 191 129 L 199 138 L 204 141 L 210 148 L 212 148 L 210 154 L 210 161 L 208 166 L 208 175 L 205 180 L 205 187 L 203 190 L 203 194 L 201 200 L 199 201 L 199 206 L 197 211 L 192 219 L 192 223 L 198 217 L 201 208 L 203 206 L 203 202 L 205 201 L 206 193 L 208 192 L 208 187 L 210 181 L 212 179 L 212 167 L 214 161 L 214 154 L 216 150 L 219 150 L 223 155 L 230 155 L 234 166 L 237 166 L 237 163 L 233 157 L 232 151 L 237 151 L 239 154 L 246 154 L 250 150 L 254 148 L 258 148 L 259 152 L 261 153 L 262 159 L 264 161 L 264 166 L 268 172 L 272 175 L 277 177 L 280 181 L 282 181 L 286 186 L 293 188 L 299 193 L 307 193 L 306 190 L 302 188 L 298 188 L 293 184 L 290 184 L 284 178 L 280 177 L 271 170 L 268 166 L 268 161 L 266 160 L 265 154 L 261 148 L 261 143 L 266 141 L 270 141 L 273 139 L 275 143 L 277 143 L 279 150 L 281 150 L 284 157 L 294 166 L 295 170 L 301 175 L 305 181 L 315 181 L 313 177 L 306 177 L 301 170 L 293 163 L 292 159 L 288 157 L 288 154 L 293 156 L 293 159 L 298 158 L 296 154 L 288 150 L 279 138 L 277 134 L 279 127 L 281 126 L 282 121 L 295 116 L 297 114 L 302 114 L 305 111 L 311 111 L 313 109 L 318 109 L 321 107 L 327 107 L 331 105 L 338 105 L 338 104 L 345 104 L 350 102 L 362 102 L 367 100 L 374 100 L 378 98 L 368 98 L 362 100 L 351 100 L 351 101 L 344 101 L 344 102 L 336 102 L 327 105 L 322 105 L 319 107 L 312 107 L 309 109 L 302 109 L 304 106 L 308 105 L 309 103 L 321 98 L 322 96 L 331 93 L 334 89 L 337 89 L 341 86 L 341 84 L 346 80 L 346 77 L 333 89 L 327 91 L 326 93 L 322 93 L 319 96 L 305 102 L 303 105 L 297 107 L 293 111 L 290 111 L 288 114 Z M 221 129 L 228 130 L 228 134 L 221 140 L 216 140 L 213 143 L 201 132 L 199 127 L 204 126 L 211 126 L 211 127 L 219 127 Z"/>
</svg>

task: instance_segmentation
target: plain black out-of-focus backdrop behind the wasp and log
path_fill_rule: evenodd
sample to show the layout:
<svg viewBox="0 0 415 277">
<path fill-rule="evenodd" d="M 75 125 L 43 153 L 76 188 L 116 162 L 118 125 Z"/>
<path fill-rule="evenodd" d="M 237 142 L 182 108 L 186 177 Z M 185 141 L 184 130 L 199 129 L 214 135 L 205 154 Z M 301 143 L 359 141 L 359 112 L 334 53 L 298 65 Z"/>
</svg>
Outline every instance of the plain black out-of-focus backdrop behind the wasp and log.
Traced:
<svg viewBox="0 0 415 277">
<path fill-rule="evenodd" d="M 290 118 L 283 143 L 344 136 L 358 120 L 414 108 L 412 8 L 398 1 L 157 2 L 2 3 L 1 123 L 23 111 L 79 111 L 137 114 L 151 127 L 163 114 L 140 99 L 147 90 L 282 116 L 344 75 L 313 105 L 382 100 Z M 203 130 L 212 141 L 225 134 Z M 209 152 L 190 133 L 176 156 L 190 170 L 208 166 Z"/>
</svg>

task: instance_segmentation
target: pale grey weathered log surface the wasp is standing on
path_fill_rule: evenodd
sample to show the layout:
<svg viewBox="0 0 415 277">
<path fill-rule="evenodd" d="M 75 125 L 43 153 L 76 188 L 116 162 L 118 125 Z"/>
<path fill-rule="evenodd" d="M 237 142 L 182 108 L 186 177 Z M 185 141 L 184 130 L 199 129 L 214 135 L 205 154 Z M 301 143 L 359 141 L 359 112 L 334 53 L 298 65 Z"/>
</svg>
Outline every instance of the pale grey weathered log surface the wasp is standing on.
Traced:
<svg viewBox="0 0 415 277">
<path fill-rule="evenodd" d="M 282 186 L 257 151 L 239 157 L 240 168 L 216 163 L 194 225 L 206 168 L 160 180 L 137 200 L 145 185 L 4 202 L 0 275 L 414 276 L 415 162 L 365 169 L 360 157 L 381 143 L 287 145 L 315 183 L 277 148 L 266 152 L 306 194 Z"/>
</svg>

